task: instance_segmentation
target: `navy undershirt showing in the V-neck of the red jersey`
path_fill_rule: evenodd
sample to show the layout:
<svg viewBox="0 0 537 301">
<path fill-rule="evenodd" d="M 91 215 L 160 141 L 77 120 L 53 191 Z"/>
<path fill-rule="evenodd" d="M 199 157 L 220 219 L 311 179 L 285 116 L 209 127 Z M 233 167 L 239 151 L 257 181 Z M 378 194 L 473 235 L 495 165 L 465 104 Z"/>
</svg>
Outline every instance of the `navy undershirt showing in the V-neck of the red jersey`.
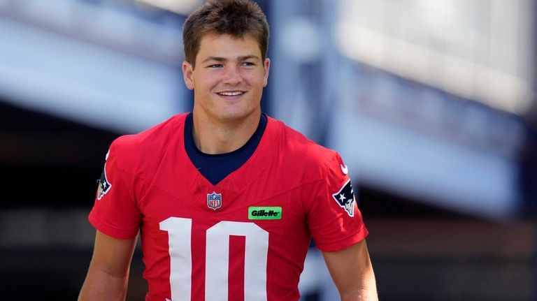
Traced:
<svg viewBox="0 0 537 301">
<path fill-rule="evenodd" d="M 185 150 L 201 175 L 211 184 L 216 185 L 250 159 L 261 141 L 265 128 L 266 115 L 262 113 L 257 130 L 241 148 L 226 154 L 205 154 L 196 147 L 194 142 L 192 112 L 190 112 L 185 121 Z"/>
</svg>

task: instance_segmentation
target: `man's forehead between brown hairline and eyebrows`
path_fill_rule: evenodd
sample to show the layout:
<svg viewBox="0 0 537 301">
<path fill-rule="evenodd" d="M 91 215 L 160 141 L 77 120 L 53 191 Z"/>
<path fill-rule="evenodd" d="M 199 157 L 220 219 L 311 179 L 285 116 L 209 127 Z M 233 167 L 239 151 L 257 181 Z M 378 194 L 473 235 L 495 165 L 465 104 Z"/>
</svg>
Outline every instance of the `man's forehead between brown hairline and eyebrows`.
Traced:
<svg viewBox="0 0 537 301">
<path fill-rule="evenodd" d="M 201 38 L 196 61 L 206 57 L 246 57 L 255 56 L 261 59 L 261 49 L 254 36 L 245 34 L 234 37 L 229 34 L 206 34 Z"/>
</svg>

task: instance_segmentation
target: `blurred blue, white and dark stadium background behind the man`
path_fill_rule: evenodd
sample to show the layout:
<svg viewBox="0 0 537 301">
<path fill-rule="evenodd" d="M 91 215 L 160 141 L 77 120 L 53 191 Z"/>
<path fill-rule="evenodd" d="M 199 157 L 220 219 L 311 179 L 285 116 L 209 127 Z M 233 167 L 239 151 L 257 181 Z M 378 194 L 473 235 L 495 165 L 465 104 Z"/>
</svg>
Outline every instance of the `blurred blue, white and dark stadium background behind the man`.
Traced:
<svg viewBox="0 0 537 301">
<path fill-rule="evenodd" d="M 108 145 L 192 108 L 200 0 L 0 0 L 0 291 L 74 300 Z M 380 300 L 537 300 L 537 4 L 259 0 L 268 115 L 338 150 Z M 128 300 L 143 300 L 141 252 Z M 316 249 L 303 300 L 336 300 Z"/>
</svg>

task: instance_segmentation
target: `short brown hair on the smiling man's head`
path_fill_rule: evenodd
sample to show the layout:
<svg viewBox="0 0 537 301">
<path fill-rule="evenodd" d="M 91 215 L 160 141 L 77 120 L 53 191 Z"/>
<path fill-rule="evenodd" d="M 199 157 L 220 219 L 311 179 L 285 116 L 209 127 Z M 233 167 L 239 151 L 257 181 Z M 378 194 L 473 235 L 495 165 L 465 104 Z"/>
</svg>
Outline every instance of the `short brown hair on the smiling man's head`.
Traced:
<svg viewBox="0 0 537 301">
<path fill-rule="evenodd" d="M 257 40 L 262 59 L 268 51 L 268 22 L 257 3 L 248 0 L 209 0 L 189 15 L 182 28 L 185 60 L 196 64 L 201 38 L 205 34 L 229 34 L 242 38 L 251 34 Z"/>
</svg>

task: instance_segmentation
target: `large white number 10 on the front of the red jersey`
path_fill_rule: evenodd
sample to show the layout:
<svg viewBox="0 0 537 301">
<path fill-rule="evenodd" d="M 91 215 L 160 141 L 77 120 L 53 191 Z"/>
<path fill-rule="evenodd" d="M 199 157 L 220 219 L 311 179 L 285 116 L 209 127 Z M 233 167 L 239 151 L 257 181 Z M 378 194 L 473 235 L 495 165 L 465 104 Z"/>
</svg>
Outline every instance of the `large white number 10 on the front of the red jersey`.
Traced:
<svg viewBox="0 0 537 301">
<path fill-rule="evenodd" d="M 168 232 L 172 301 L 190 301 L 192 219 L 170 217 L 159 223 Z M 220 221 L 207 229 L 205 299 L 227 301 L 229 235 L 245 237 L 244 300 L 266 300 L 268 232 L 255 223 Z"/>
</svg>

